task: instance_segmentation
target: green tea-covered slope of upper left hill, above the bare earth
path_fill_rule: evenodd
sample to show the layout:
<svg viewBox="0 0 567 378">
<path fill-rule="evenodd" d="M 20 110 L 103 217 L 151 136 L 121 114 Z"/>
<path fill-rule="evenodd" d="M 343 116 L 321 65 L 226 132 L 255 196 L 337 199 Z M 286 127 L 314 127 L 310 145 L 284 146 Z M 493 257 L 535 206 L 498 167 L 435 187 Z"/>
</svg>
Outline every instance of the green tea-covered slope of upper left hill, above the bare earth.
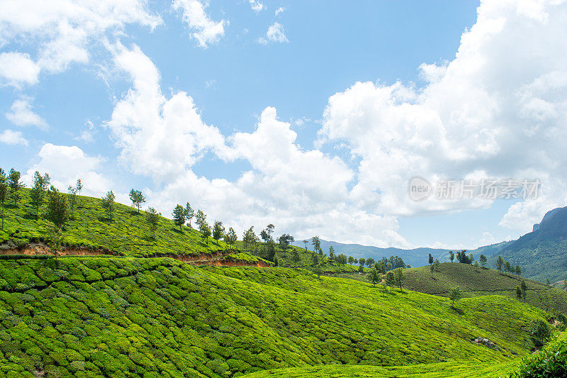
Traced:
<svg viewBox="0 0 567 378">
<path fill-rule="evenodd" d="M 35 220 L 29 190 L 23 189 L 22 194 L 18 207 L 6 207 L 6 227 L 4 233 L 0 230 L 0 243 L 23 245 L 45 237 L 45 221 Z M 207 245 L 193 228 L 183 226 L 183 232 L 180 232 L 179 226 L 167 218 L 160 219 L 154 239 L 143 211 L 138 214 L 130 206 L 116 204 L 116 214 L 111 222 L 106 219 L 101 200 L 86 196 L 79 197 L 72 219 L 64 227 L 63 237 L 69 246 L 111 250 L 136 257 L 191 255 L 228 249 L 223 241 L 217 245 L 212 238 L 208 239 Z"/>
</svg>

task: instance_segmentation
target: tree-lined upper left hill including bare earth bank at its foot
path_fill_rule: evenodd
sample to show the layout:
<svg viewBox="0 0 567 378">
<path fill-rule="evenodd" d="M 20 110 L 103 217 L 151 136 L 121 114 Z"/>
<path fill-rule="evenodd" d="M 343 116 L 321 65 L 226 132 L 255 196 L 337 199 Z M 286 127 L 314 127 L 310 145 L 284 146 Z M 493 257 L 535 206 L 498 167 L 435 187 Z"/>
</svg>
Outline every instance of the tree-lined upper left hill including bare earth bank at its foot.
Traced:
<svg viewBox="0 0 567 378">
<path fill-rule="evenodd" d="M 69 196 L 67 196 L 69 199 Z M 30 204 L 30 190 L 21 190 L 18 206 L 6 204 L 4 231 L 0 230 L 0 255 L 52 253 L 47 243 L 47 222 L 36 219 Z M 62 255 L 122 255 L 131 257 L 176 257 L 196 263 L 242 262 L 266 265 L 258 257 L 242 254 L 222 240 L 203 240 L 193 228 L 176 226 L 159 217 L 156 237 L 146 221 L 144 211 L 116 203 L 113 221 L 106 218 L 101 199 L 77 196 L 77 205 L 62 231 Z M 31 243 L 31 245 L 30 245 Z"/>
</svg>

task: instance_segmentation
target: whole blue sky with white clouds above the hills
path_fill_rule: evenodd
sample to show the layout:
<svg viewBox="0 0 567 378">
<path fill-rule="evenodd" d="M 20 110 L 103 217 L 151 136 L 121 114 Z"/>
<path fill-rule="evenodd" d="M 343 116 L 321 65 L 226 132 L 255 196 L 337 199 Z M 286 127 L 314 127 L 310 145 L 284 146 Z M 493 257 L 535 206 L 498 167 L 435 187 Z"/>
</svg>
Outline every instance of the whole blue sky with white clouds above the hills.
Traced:
<svg viewBox="0 0 567 378">
<path fill-rule="evenodd" d="M 512 240 L 566 206 L 566 1 L 0 9 L 0 167 L 24 182 L 398 248 Z"/>
</svg>

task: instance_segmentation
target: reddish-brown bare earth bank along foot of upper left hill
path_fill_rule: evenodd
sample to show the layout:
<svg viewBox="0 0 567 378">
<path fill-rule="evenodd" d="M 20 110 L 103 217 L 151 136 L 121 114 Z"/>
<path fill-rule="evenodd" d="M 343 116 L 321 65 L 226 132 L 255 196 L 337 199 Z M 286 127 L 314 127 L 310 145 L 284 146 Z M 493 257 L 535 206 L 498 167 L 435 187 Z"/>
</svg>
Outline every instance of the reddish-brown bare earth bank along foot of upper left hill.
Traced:
<svg viewBox="0 0 567 378">
<path fill-rule="evenodd" d="M 201 253 L 198 255 L 176 255 L 168 253 L 167 255 L 152 255 L 150 257 L 169 257 L 191 265 L 210 265 L 215 267 L 271 267 L 271 265 L 262 260 L 255 262 L 235 260 L 233 257 L 227 256 L 230 255 L 231 252 L 235 251 L 219 250 L 213 253 Z M 64 248 L 62 250 L 52 251 L 47 245 L 42 243 L 28 244 L 22 248 L 0 249 L 0 255 L 121 256 L 113 251 L 91 250 L 89 248 Z"/>
</svg>

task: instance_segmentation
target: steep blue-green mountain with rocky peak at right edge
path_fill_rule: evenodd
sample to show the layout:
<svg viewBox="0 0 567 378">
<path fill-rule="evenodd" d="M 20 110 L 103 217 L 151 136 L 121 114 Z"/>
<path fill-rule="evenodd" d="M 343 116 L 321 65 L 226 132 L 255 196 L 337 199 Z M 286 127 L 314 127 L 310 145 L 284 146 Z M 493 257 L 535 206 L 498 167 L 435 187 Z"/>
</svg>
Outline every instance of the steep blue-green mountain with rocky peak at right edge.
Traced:
<svg viewBox="0 0 567 378">
<path fill-rule="evenodd" d="M 556 282 L 567 277 L 567 207 L 548 211 L 540 223 L 518 240 L 495 250 L 512 265 L 524 269 L 524 277 Z"/>
</svg>

